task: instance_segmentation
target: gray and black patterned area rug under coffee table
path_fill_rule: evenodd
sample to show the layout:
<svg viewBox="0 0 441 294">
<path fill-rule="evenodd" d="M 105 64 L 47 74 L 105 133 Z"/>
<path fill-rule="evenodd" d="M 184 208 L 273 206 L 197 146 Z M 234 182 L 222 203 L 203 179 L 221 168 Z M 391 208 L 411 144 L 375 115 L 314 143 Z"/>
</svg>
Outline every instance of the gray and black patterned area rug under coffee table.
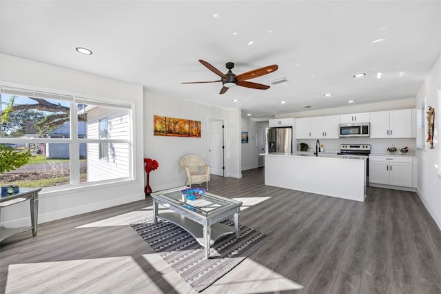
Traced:
<svg viewBox="0 0 441 294">
<path fill-rule="evenodd" d="M 221 223 L 234 226 L 229 219 Z M 210 258 L 205 259 L 203 246 L 176 224 L 158 219 L 155 226 L 153 219 L 142 219 L 130 226 L 198 292 L 231 271 L 270 239 L 252 228 L 240 226 L 239 239 L 235 234 L 220 237 L 210 248 Z"/>
</svg>

